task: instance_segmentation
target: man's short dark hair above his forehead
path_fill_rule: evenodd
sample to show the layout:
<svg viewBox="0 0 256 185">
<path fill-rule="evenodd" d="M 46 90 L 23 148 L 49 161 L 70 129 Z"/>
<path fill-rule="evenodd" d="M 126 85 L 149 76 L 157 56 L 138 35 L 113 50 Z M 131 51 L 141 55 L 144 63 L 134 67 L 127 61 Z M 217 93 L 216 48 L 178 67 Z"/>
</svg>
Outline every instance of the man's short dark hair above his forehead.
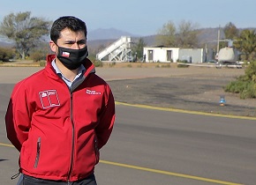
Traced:
<svg viewBox="0 0 256 185">
<path fill-rule="evenodd" d="M 87 38 L 87 25 L 84 21 L 72 16 L 64 16 L 61 18 L 57 18 L 56 21 L 54 21 L 53 25 L 51 26 L 51 29 L 50 29 L 51 41 L 54 41 L 56 43 L 56 41 L 60 37 L 60 32 L 63 31 L 64 28 L 69 28 L 73 32 L 82 31 L 85 33 Z"/>
</svg>

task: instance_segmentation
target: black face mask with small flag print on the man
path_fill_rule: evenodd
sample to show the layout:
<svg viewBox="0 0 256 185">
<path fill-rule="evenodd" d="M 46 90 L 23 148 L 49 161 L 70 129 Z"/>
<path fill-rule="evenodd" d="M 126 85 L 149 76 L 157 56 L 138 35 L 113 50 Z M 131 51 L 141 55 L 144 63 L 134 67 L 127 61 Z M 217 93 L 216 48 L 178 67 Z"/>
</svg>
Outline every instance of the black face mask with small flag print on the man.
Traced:
<svg viewBox="0 0 256 185">
<path fill-rule="evenodd" d="M 58 47 L 58 53 L 56 57 L 61 63 L 69 70 L 76 70 L 87 58 L 87 47 L 81 49 L 62 48 Z"/>
</svg>

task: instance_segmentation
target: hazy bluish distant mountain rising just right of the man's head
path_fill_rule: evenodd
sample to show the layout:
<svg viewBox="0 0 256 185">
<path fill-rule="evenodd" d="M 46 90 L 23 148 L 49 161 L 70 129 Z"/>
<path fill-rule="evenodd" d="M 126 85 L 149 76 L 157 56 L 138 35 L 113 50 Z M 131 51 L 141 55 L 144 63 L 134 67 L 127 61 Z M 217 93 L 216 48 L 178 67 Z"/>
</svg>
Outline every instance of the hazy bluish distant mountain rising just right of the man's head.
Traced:
<svg viewBox="0 0 256 185">
<path fill-rule="evenodd" d="M 138 37 L 139 35 L 135 35 L 132 33 L 124 32 L 121 30 L 117 30 L 115 28 L 109 29 L 96 29 L 92 31 L 88 31 L 88 41 L 94 40 L 117 40 L 121 36 L 131 36 L 131 37 Z"/>
</svg>

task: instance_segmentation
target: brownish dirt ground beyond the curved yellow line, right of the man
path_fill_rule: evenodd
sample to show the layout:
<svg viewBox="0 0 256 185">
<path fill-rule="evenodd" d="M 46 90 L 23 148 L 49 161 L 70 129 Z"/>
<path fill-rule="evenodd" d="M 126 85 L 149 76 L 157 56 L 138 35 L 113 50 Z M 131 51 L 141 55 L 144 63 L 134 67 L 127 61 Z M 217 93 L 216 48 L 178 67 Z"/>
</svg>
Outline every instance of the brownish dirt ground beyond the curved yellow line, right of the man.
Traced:
<svg viewBox="0 0 256 185">
<path fill-rule="evenodd" d="M 223 91 L 230 81 L 245 74 L 245 69 L 191 66 L 184 70 L 171 70 L 171 75 L 165 77 L 113 80 L 109 81 L 109 85 L 115 99 L 121 102 L 223 115 L 256 116 L 256 100 L 241 100 L 237 94 Z M 225 106 L 220 106 L 221 96 L 226 100 Z"/>
</svg>

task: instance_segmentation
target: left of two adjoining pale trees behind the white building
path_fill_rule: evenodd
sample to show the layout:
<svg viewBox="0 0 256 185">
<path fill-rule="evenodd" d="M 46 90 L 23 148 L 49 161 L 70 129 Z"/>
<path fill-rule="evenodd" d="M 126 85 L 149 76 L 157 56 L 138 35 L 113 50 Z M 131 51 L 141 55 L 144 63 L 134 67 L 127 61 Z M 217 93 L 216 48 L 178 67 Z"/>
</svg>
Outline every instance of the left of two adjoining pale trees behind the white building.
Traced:
<svg viewBox="0 0 256 185">
<path fill-rule="evenodd" d="M 176 26 L 172 21 L 162 26 L 162 29 L 156 35 L 155 41 L 158 45 L 176 47 Z"/>
</svg>

